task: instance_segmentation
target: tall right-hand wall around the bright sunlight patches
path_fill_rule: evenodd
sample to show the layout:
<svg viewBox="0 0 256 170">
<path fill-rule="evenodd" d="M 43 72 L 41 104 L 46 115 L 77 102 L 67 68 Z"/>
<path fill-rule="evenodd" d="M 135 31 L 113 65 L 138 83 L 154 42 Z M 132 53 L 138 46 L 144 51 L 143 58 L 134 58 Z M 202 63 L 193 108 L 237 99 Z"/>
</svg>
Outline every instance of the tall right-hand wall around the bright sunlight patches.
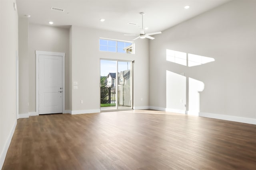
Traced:
<svg viewBox="0 0 256 170">
<path fill-rule="evenodd" d="M 237 0 L 156 35 L 150 41 L 150 106 L 167 108 L 166 95 L 173 95 L 166 93 L 168 70 L 204 83 L 200 115 L 210 113 L 208 117 L 256 123 L 255 21 L 256 1 Z M 166 61 L 166 49 L 212 57 L 215 61 L 182 66 Z M 188 106 L 189 103 L 187 111 Z M 169 109 L 179 109 L 172 107 Z"/>
</svg>

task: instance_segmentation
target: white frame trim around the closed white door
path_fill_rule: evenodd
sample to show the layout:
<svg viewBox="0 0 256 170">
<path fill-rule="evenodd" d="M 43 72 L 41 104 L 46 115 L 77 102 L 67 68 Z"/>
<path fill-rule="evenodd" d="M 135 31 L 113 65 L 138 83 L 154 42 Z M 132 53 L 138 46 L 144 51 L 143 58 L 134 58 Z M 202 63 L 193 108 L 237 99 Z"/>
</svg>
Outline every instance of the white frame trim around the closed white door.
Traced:
<svg viewBox="0 0 256 170">
<path fill-rule="evenodd" d="M 39 115 L 39 57 L 40 55 L 55 55 L 62 57 L 62 113 L 65 111 L 65 53 L 51 51 L 36 51 L 36 114 Z"/>
</svg>

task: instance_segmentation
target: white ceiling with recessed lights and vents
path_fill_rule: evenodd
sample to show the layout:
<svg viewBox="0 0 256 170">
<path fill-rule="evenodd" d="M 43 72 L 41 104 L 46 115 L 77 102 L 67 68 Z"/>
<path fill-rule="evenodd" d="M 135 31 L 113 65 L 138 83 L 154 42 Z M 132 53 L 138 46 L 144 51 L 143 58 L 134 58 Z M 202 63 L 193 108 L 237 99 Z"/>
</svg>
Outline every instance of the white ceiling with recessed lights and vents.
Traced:
<svg viewBox="0 0 256 170">
<path fill-rule="evenodd" d="M 136 34 L 144 12 L 146 32 L 164 31 L 230 0 L 16 0 L 19 17 L 30 23 L 53 26 L 79 25 Z M 184 6 L 189 5 L 189 9 Z M 64 12 L 51 10 L 64 9 Z M 68 14 L 70 13 L 70 14 Z M 104 22 L 100 19 L 104 18 Z M 128 22 L 138 25 L 128 25 Z"/>
</svg>

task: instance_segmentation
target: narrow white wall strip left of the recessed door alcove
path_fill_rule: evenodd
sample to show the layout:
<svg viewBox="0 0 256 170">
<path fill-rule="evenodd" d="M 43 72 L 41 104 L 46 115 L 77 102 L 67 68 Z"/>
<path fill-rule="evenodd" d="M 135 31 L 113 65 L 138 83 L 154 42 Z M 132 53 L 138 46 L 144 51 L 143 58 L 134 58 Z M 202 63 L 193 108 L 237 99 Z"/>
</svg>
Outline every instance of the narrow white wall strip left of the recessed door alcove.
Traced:
<svg viewBox="0 0 256 170">
<path fill-rule="evenodd" d="M 19 114 L 28 117 L 28 18 L 19 18 Z M 22 117 L 22 116 L 21 116 Z"/>
</svg>

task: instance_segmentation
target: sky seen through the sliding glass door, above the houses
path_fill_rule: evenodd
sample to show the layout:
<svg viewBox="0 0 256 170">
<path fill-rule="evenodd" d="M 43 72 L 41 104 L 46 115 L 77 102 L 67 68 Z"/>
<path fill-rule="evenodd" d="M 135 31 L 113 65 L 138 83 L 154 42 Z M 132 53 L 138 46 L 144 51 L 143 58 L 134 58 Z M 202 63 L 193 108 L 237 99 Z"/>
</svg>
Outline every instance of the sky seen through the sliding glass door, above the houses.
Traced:
<svg viewBox="0 0 256 170">
<path fill-rule="evenodd" d="M 118 72 L 131 69 L 132 62 L 118 61 Z M 116 61 L 100 60 L 100 76 L 107 76 L 110 72 L 116 72 Z"/>
</svg>

